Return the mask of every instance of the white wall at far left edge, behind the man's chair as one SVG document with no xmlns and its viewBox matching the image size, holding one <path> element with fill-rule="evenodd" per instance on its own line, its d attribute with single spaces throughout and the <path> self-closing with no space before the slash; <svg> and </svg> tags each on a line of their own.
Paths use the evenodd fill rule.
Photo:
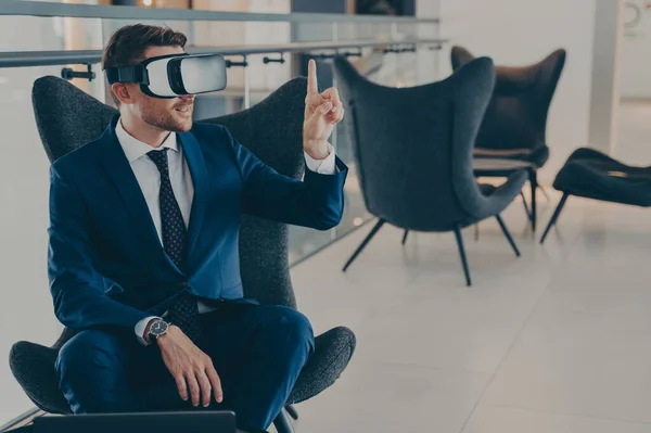
<svg viewBox="0 0 651 433">
<path fill-rule="evenodd" d="M 62 49 L 63 21 L 0 18 L 0 50 Z M 31 84 L 61 68 L 0 69 L 0 425 L 34 405 L 9 370 L 18 340 L 52 344 L 60 331 L 46 273 L 49 162 L 31 111 Z"/>
</svg>

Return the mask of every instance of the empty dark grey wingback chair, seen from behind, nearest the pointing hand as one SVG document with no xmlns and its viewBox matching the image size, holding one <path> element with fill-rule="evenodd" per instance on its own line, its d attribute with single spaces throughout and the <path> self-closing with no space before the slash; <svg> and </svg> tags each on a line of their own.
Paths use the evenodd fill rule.
<svg viewBox="0 0 651 433">
<path fill-rule="evenodd" d="M 480 186 L 473 175 L 474 142 L 495 81 L 493 62 L 477 59 L 443 81 L 403 89 L 367 80 L 342 58 L 334 68 L 365 203 L 379 218 L 343 270 L 385 222 L 454 231 L 468 285 L 462 228 L 495 216 L 520 255 L 499 214 L 518 196 L 526 174 L 512 175 L 500 188 Z"/>
</svg>

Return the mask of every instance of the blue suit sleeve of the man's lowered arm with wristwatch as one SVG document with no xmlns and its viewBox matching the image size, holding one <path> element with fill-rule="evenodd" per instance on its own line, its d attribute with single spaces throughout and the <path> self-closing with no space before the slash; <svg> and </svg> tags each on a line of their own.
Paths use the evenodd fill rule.
<svg viewBox="0 0 651 433">
<path fill-rule="evenodd" d="M 66 327 L 133 329 L 151 316 L 104 294 L 104 278 L 95 270 L 97 251 L 90 242 L 90 221 L 78 190 L 50 169 L 50 243 L 48 277 L 54 314 Z"/>
</svg>

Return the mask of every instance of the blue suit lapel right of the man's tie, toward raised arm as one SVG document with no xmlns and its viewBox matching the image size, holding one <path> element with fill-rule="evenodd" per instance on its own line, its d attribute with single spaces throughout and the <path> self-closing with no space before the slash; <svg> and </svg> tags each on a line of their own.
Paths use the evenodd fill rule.
<svg viewBox="0 0 651 433">
<path fill-rule="evenodd" d="M 190 167 L 192 184 L 194 186 L 194 198 L 192 199 L 190 224 L 188 227 L 188 262 L 191 264 L 192 252 L 195 250 L 206 213 L 208 174 L 196 138 L 191 132 L 182 132 L 179 133 L 178 137 L 181 147 L 183 148 L 183 155 Z"/>
</svg>

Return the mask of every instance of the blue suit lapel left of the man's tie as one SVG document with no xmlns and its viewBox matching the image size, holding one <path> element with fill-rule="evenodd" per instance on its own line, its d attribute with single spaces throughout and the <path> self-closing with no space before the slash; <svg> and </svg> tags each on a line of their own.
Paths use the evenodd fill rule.
<svg viewBox="0 0 651 433">
<path fill-rule="evenodd" d="M 136 178 L 129 161 L 115 135 L 114 125 L 115 124 L 112 123 L 101 138 L 104 148 L 102 153 L 102 164 L 104 165 L 108 177 L 119 191 L 124 205 L 131 215 L 131 219 L 136 226 L 135 231 L 144 238 L 145 245 L 163 254 L 169 265 L 173 266 L 176 271 L 180 272 L 176 265 L 167 257 L 167 253 L 165 253 L 165 249 L 156 232 L 156 227 L 154 226 L 146 201 L 144 200 L 140 184 L 138 184 L 138 179 Z"/>
</svg>

